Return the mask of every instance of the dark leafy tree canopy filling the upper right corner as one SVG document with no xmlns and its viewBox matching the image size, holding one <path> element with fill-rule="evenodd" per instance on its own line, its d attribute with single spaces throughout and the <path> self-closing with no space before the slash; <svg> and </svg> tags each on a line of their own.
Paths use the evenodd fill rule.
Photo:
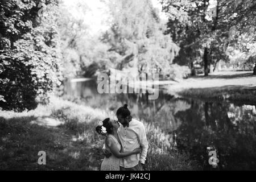
<svg viewBox="0 0 256 182">
<path fill-rule="evenodd" d="M 170 30 L 173 26 L 179 25 L 178 30 L 175 33 L 172 32 L 172 36 L 177 38 L 175 43 L 181 45 L 181 52 L 186 53 L 186 49 L 192 46 L 198 52 L 202 52 L 205 76 L 208 75 L 210 64 L 220 59 L 227 60 L 228 47 L 243 47 L 240 39 L 248 41 L 251 38 L 250 44 L 255 44 L 255 36 L 252 36 L 254 35 L 253 27 L 255 27 L 253 14 L 255 1 L 162 0 L 160 2 L 162 2 L 163 11 L 170 16 L 170 23 L 168 23 Z M 175 24 L 173 25 L 172 22 Z M 234 28 L 237 30 L 236 36 L 232 35 Z M 188 36 L 182 36 L 184 32 Z M 243 40 L 243 43 L 246 41 Z M 253 55 L 252 47 L 254 46 L 249 47 L 247 44 L 247 51 L 250 49 L 249 52 Z M 189 53 L 186 55 L 189 57 Z"/>
</svg>

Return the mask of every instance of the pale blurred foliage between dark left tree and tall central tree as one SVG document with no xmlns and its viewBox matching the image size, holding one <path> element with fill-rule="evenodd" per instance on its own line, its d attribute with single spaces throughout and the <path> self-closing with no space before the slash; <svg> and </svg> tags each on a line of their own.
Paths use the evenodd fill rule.
<svg viewBox="0 0 256 182">
<path fill-rule="evenodd" d="M 92 77 L 99 69 L 105 69 L 106 52 L 108 47 L 100 41 L 100 34 L 90 32 L 89 20 L 85 19 L 90 13 L 86 2 L 72 3 L 80 16 L 72 14 L 72 7 L 59 5 L 57 26 L 61 38 L 61 54 L 63 75 L 65 79 L 75 77 Z"/>
</svg>

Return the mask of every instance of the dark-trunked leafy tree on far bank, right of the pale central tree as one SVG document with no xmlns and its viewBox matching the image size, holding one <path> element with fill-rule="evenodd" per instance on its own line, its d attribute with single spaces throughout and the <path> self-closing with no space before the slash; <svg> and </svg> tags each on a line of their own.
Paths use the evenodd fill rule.
<svg viewBox="0 0 256 182">
<path fill-rule="evenodd" d="M 177 41 L 182 45 L 183 52 L 188 52 L 187 57 L 193 68 L 193 59 L 203 52 L 203 65 L 205 76 L 209 73 L 211 63 L 210 50 L 213 42 L 212 34 L 216 30 L 218 15 L 214 10 L 214 3 L 210 1 L 161 1 L 163 10 L 170 16 L 170 23 L 176 22 L 180 30 L 175 32 Z M 213 14 L 212 14 L 213 13 Z M 174 26 L 175 26 L 174 25 Z M 171 29 L 171 27 L 170 27 Z M 186 35 L 186 36 L 183 36 Z M 201 49 L 201 50 L 200 50 Z M 189 55 L 194 56 L 189 56 Z"/>
</svg>

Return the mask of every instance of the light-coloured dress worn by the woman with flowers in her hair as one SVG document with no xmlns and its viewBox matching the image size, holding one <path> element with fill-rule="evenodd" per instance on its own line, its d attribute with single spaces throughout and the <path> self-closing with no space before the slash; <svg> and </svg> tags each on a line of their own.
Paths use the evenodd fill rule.
<svg viewBox="0 0 256 182">
<path fill-rule="evenodd" d="M 120 151 L 121 144 L 119 144 L 117 138 L 115 138 L 113 135 L 109 135 L 109 137 L 113 138 L 118 150 Z M 110 151 L 108 146 L 106 146 L 106 150 Z M 101 171 L 120 171 L 120 159 L 115 157 L 113 154 L 109 158 L 105 157 L 101 164 Z"/>
</svg>

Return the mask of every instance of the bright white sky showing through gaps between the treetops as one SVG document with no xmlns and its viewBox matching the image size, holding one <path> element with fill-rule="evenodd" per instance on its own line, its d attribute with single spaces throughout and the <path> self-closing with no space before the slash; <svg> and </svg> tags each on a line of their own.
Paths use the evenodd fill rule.
<svg viewBox="0 0 256 182">
<path fill-rule="evenodd" d="M 148 0 L 152 1 L 152 5 L 159 9 L 159 12 L 162 10 L 162 6 L 159 4 L 158 0 Z M 108 24 L 107 20 L 110 19 L 108 15 L 108 10 L 106 9 L 104 3 L 101 0 L 63 0 L 64 5 L 67 6 L 67 9 L 72 13 L 73 16 L 77 19 L 85 19 L 86 24 L 89 26 L 89 32 L 91 34 L 98 34 L 98 32 L 107 30 Z M 77 9 L 75 6 L 76 3 L 86 3 L 89 7 L 89 11 Z M 160 13 L 160 18 L 166 20 L 167 17 L 164 13 Z"/>
</svg>

